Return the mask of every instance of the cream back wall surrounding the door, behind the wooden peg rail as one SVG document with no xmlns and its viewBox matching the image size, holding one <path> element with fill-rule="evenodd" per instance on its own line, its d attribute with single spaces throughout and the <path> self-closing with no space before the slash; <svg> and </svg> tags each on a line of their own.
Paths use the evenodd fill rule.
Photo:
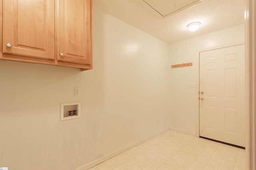
<svg viewBox="0 0 256 170">
<path fill-rule="evenodd" d="M 196 134 L 199 52 L 244 43 L 244 36 L 242 24 L 170 44 L 170 64 L 193 63 L 170 69 L 170 128 Z M 188 83 L 197 88 L 188 88 Z"/>
</svg>

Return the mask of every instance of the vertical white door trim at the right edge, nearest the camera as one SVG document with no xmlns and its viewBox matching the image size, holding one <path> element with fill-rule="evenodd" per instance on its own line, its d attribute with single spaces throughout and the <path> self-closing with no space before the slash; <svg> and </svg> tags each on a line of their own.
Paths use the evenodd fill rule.
<svg viewBox="0 0 256 170">
<path fill-rule="evenodd" d="M 247 116 L 247 149 L 246 169 L 256 169 L 256 2 L 246 0 L 246 29 L 245 29 L 245 53 L 246 53 L 246 106 Z"/>
</svg>

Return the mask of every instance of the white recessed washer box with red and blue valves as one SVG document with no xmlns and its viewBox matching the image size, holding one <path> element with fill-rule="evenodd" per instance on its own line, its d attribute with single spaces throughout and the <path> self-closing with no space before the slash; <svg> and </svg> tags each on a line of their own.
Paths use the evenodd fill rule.
<svg viewBox="0 0 256 170">
<path fill-rule="evenodd" d="M 77 119 L 81 117 L 81 103 L 63 103 L 60 105 L 60 120 Z"/>
</svg>

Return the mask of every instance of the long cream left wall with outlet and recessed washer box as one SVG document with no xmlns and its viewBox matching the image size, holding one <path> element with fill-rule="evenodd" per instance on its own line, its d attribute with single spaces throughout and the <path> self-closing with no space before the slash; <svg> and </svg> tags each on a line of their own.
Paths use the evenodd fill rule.
<svg viewBox="0 0 256 170">
<path fill-rule="evenodd" d="M 97 8 L 93 25 L 92 70 L 0 61 L 1 166 L 72 170 L 169 127 L 168 44 Z M 60 121 L 69 102 L 81 118 Z"/>
</svg>

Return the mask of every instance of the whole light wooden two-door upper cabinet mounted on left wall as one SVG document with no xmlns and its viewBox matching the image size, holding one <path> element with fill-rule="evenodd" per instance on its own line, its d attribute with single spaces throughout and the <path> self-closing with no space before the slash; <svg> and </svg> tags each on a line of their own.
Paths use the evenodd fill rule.
<svg viewBox="0 0 256 170">
<path fill-rule="evenodd" d="M 92 0 L 0 0 L 0 59 L 92 69 Z"/>
</svg>

